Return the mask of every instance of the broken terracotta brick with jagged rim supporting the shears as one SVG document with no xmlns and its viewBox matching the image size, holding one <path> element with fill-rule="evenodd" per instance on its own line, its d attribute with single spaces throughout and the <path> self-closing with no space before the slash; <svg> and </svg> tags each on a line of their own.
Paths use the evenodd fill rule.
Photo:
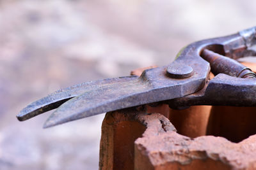
<svg viewBox="0 0 256 170">
<path fill-rule="evenodd" d="M 256 169 L 255 141 L 188 138 L 159 113 L 120 110 L 102 124 L 100 169 Z"/>
</svg>

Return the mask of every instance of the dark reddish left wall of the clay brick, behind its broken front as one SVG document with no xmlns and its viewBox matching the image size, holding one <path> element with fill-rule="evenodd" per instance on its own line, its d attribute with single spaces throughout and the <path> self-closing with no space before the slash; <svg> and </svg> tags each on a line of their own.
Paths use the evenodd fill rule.
<svg viewBox="0 0 256 170">
<path fill-rule="evenodd" d="M 159 113 L 132 108 L 107 113 L 102 123 L 100 169 L 134 169 L 134 141 L 141 137 L 147 125 L 154 124 L 163 125 L 157 127 L 159 131 L 175 131 Z"/>
</svg>

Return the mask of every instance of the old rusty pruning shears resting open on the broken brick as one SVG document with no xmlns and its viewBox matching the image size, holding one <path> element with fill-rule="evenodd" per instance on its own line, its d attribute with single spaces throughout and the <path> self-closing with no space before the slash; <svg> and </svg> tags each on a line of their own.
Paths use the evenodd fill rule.
<svg viewBox="0 0 256 170">
<path fill-rule="evenodd" d="M 255 29 L 191 43 L 172 64 L 147 69 L 140 77 L 109 78 L 58 90 L 29 104 L 17 118 L 23 121 L 57 108 L 44 125 L 51 127 L 149 103 L 168 103 L 172 108 L 197 104 L 256 106 L 255 74 L 234 60 L 256 55 Z M 210 71 L 216 74 L 211 81 Z"/>
</svg>

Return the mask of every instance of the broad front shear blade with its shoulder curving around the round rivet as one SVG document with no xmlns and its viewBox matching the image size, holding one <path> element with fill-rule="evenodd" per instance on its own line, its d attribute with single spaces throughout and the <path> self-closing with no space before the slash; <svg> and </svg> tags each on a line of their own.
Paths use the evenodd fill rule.
<svg viewBox="0 0 256 170">
<path fill-rule="evenodd" d="M 177 62 L 177 61 L 176 61 Z M 204 64 L 197 61 L 195 67 Z M 168 78 L 166 66 L 145 70 L 140 78 L 131 78 L 124 83 L 113 81 L 109 86 L 94 86 L 80 96 L 74 97 L 61 106 L 47 119 L 44 127 L 63 124 L 72 120 L 90 117 L 107 111 L 165 101 L 192 94 L 205 83 L 209 67 L 201 67 L 201 74 L 190 78 Z M 204 70 L 205 69 L 205 70 Z"/>
</svg>

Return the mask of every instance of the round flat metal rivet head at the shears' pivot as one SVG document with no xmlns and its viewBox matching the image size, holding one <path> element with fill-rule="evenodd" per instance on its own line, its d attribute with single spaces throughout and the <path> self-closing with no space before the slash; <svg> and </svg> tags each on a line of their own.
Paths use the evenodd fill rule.
<svg viewBox="0 0 256 170">
<path fill-rule="evenodd" d="M 171 78 L 188 78 L 193 75 L 193 68 L 185 64 L 171 64 L 166 72 Z"/>
</svg>

